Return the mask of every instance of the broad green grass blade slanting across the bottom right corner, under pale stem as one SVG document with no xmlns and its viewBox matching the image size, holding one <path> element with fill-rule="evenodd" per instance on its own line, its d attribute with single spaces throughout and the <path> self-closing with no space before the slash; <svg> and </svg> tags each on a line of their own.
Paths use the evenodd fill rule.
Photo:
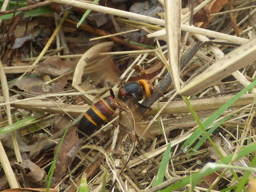
<svg viewBox="0 0 256 192">
<path fill-rule="evenodd" d="M 256 143 L 253 143 L 253 144 L 250 144 L 250 145 L 247 145 L 246 147 L 242 148 L 238 155 L 237 155 L 237 158 L 236 160 L 252 153 L 256 151 Z M 218 161 L 219 163 L 223 163 L 223 164 L 228 164 L 231 159 L 232 159 L 232 156 L 233 156 L 233 153 L 226 156 L 226 157 L 223 157 L 220 161 Z M 218 163 L 217 162 L 217 163 Z M 216 170 L 212 169 L 210 172 L 208 172 L 207 174 L 211 174 L 211 173 L 214 173 Z M 203 175 L 203 177 L 206 176 L 206 175 Z M 178 188 L 181 188 L 181 187 L 184 187 L 185 185 L 189 184 L 191 181 L 196 181 L 198 180 L 199 178 L 199 172 L 197 173 L 194 173 L 194 174 L 191 174 L 190 176 L 187 176 L 185 177 L 184 179 L 182 179 L 181 181 L 173 184 L 173 185 L 170 185 L 169 187 L 161 190 L 162 192 L 169 192 L 169 191 L 172 191 L 172 190 L 175 190 L 175 189 L 178 189 Z M 201 179 L 201 178 L 200 178 Z"/>
</svg>

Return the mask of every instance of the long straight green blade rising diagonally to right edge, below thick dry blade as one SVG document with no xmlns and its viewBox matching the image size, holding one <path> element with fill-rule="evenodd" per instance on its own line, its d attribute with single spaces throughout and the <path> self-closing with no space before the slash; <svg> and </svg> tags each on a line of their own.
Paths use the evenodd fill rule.
<svg viewBox="0 0 256 192">
<path fill-rule="evenodd" d="M 238 100 L 243 94 L 245 94 L 247 91 L 249 91 L 251 88 L 253 88 L 256 84 L 256 80 L 253 80 L 247 87 L 245 87 L 243 90 L 241 90 L 237 95 L 235 95 L 233 98 L 231 98 L 229 101 L 227 101 L 224 105 L 222 105 L 216 112 L 214 112 L 210 117 L 208 117 L 202 124 L 204 126 L 204 129 L 207 129 L 216 119 L 218 119 L 221 114 L 229 108 L 229 106 L 236 100 Z M 183 144 L 183 148 L 190 147 L 194 144 L 194 142 L 199 138 L 199 136 L 203 133 L 203 131 L 198 128 Z"/>
</svg>

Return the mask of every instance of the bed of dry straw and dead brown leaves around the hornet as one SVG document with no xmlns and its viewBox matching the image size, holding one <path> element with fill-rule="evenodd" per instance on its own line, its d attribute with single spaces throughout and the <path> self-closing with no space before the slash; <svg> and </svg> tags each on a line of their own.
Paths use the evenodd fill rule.
<svg viewBox="0 0 256 192">
<path fill-rule="evenodd" d="M 44 53 L 44 57 L 35 66 L 32 73 L 29 73 L 19 81 L 16 79 L 25 72 L 24 67 L 30 66 L 47 45 L 49 38 L 56 28 L 58 19 L 54 14 L 24 17 L 24 12 L 20 12 L 11 19 L 3 20 L 5 25 L 2 22 L 2 26 L 5 27 L 1 28 L 0 39 L 2 46 L 0 51 L 2 64 L 0 65 L 3 65 L 4 71 L 9 71 L 6 75 L 10 101 L 20 102 L 20 105 L 17 105 L 18 103 L 16 105 L 15 103 L 11 104 L 12 121 L 18 122 L 26 118 L 24 116 L 25 112 L 20 111 L 20 108 L 28 110 L 29 113 L 26 113 L 28 116 L 40 111 L 38 117 L 41 119 L 41 122 L 46 121 L 45 124 L 35 122 L 32 125 L 17 128 L 14 131 L 17 135 L 20 149 L 23 149 L 20 150 L 24 153 L 23 157 L 26 154 L 29 156 L 29 160 L 23 159 L 23 162 L 17 162 L 14 156 L 8 155 L 10 162 L 5 162 L 10 163 L 13 169 L 19 170 L 18 174 L 15 173 L 15 177 L 26 191 L 32 190 L 28 187 L 42 187 L 40 190 L 45 190 L 44 187 L 46 186 L 42 186 L 42 184 L 46 173 L 49 171 L 49 163 L 52 163 L 53 156 L 56 155 L 56 147 L 59 145 L 59 138 L 63 131 L 70 120 L 75 119 L 79 113 L 86 112 L 84 109 L 89 109 L 90 105 L 97 102 L 100 98 L 108 96 L 108 89 L 112 88 L 116 94 L 120 86 L 127 82 L 139 79 L 151 80 L 154 86 L 165 94 L 160 99 L 159 106 L 161 108 L 175 93 L 174 85 L 171 83 L 172 80 L 167 79 L 165 81 L 165 76 L 168 76 L 168 74 L 164 67 L 164 60 L 167 61 L 169 59 L 165 47 L 166 35 L 164 38 L 160 35 L 159 38 L 157 38 L 158 36 L 147 37 L 148 33 L 154 33 L 164 28 L 164 23 L 159 23 L 159 25 L 153 23 L 150 26 L 145 23 L 144 17 L 142 17 L 142 15 L 150 16 L 152 21 L 154 20 L 153 17 L 164 19 L 166 10 L 163 9 L 163 3 L 166 3 L 166 1 L 108 1 L 106 4 L 100 2 L 100 6 L 111 8 L 111 14 L 106 14 L 104 9 L 94 10 L 79 28 L 76 28 L 76 24 L 85 12 L 82 6 L 71 9 L 72 7 L 66 1 L 52 0 L 51 2 L 54 2 L 50 4 L 50 7 L 55 14 L 62 16 L 67 10 L 70 13 L 59 30 L 58 35 L 56 35 L 49 49 Z M 76 1 L 74 0 L 74 2 Z M 199 11 L 195 11 L 194 16 L 191 17 L 190 7 L 193 6 L 193 9 L 196 10 L 197 6 L 203 3 L 203 1 L 193 2 L 194 4 L 192 5 L 190 4 L 191 1 L 188 1 L 188 4 L 186 1 L 182 1 L 181 21 L 184 21 L 182 24 L 188 25 L 190 22 L 198 28 L 220 32 L 220 39 L 223 39 L 222 34 L 228 34 L 234 38 L 239 36 L 243 39 L 250 39 L 255 36 L 253 27 L 255 25 L 254 2 L 209 1 L 210 3 L 203 6 Z M 31 1 L 27 3 L 31 4 Z M 249 6 L 251 8 L 246 8 Z M 92 9 L 94 8 L 92 7 Z M 127 15 L 123 15 L 123 18 L 126 20 L 120 20 L 120 14 L 123 12 L 120 13 L 118 10 L 137 13 L 137 20 L 127 20 L 129 18 Z M 233 12 L 225 12 L 232 10 Z M 246 17 L 248 14 L 251 16 Z M 119 15 L 119 17 L 115 15 Z M 193 18 L 193 20 L 189 21 L 189 17 Z M 128 31 L 132 29 L 140 31 L 129 33 Z M 94 37 L 125 31 L 127 34 L 89 41 Z M 181 42 L 181 59 L 188 61 L 185 65 L 181 63 L 181 70 L 183 70 L 181 76 L 182 84 L 186 84 L 186 82 L 194 79 L 195 76 L 203 73 L 216 60 L 236 49 L 227 40 L 224 44 L 218 44 L 220 39 L 215 38 L 212 39 L 212 41 L 215 41 L 213 44 L 210 42 L 205 46 L 201 46 L 195 55 L 183 54 L 191 49 L 196 49 L 193 46 L 196 46 L 196 42 L 203 38 L 202 34 L 199 36 L 197 33 L 197 29 L 194 32 L 182 31 L 181 39 L 179 39 Z M 211 33 L 207 33 L 208 37 L 211 37 L 211 35 Z M 97 53 L 96 55 L 88 54 L 87 51 L 90 48 L 101 45 L 100 43 L 106 41 L 114 43 L 110 50 Z M 156 47 L 157 44 L 162 46 L 161 52 L 159 50 L 147 52 L 148 48 L 144 46 Z M 68 45 L 68 52 L 67 49 L 63 51 L 65 45 Z M 88 55 L 79 61 L 81 55 L 86 52 Z M 136 62 L 134 63 L 134 61 Z M 78 77 L 74 76 L 74 71 L 78 68 L 79 65 L 77 63 L 79 62 L 89 62 L 90 68 L 84 68 L 85 70 L 79 68 L 80 75 Z M 138 63 L 139 65 L 137 65 Z M 135 66 L 130 67 L 131 65 Z M 125 75 L 122 75 L 123 73 Z M 246 66 L 236 74 L 229 74 L 229 76 L 223 77 L 217 82 L 212 82 L 211 86 L 208 86 L 207 89 L 190 96 L 190 101 L 193 102 L 194 110 L 201 122 L 220 107 L 218 104 L 223 98 L 231 98 L 246 87 L 253 80 L 255 74 L 255 63 L 246 63 Z M 74 83 L 74 79 L 77 78 L 79 80 L 78 84 L 80 86 L 81 83 L 82 88 L 78 91 L 72 87 L 72 81 Z M 5 85 L 2 83 L 1 81 L 1 93 L 5 88 Z M 164 88 L 161 87 L 162 84 Z M 130 106 L 136 122 L 135 127 L 131 127 L 133 120 L 126 120 L 128 122 L 126 122 L 126 125 L 125 120 L 122 122 L 121 120 L 115 120 L 114 118 L 119 113 L 118 110 L 108 120 L 108 122 L 112 120 L 113 122 L 107 123 L 106 126 L 103 126 L 99 132 L 96 132 L 90 138 L 79 139 L 76 126 L 71 127 L 61 143 L 50 190 L 55 190 L 53 187 L 59 187 L 57 190 L 75 191 L 76 187 L 80 184 L 82 173 L 86 173 L 89 190 L 99 190 L 101 187 L 108 191 L 112 190 L 113 187 L 116 191 L 151 190 L 151 183 L 158 172 L 164 149 L 167 146 L 166 141 L 169 140 L 172 140 L 172 150 L 161 189 L 168 186 L 174 188 L 175 185 L 171 182 L 172 178 L 180 180 L 189 174 L 193 175 L 193 173 L 198 172 L 207 162 L 221 160 L 220 155 L 216 153 L 215 147 L 208 140 L 190 158 L 188 158 L 189 151 L 184 151 L 181 147 L 184 141 L 197 129 L 198 124 L 191 117 L 191 114 L 188 113 L 187 109 L 184 111 L 180 110 L 181 106 L 178 104 L 183 102 L 180 95 L 177 95 L 170 102 L 172 105 L 167 106 L 166 110 L 160 115 L 161 118 L 157 118 L 152 123 L 147 131 L 147 138 L 143 137 L 143 139 L 138 140 L 140 135 L 134 138 L 134 136 L 129 134 L 134 128 L 138 130 L 137 134 L 142 134 L 148 123 L 151 123 L 153 116 L 157 114 L 159 106 L 157 103 L 153 105 L 147 103 L 154 103 L 160 98 L 161 94 L 159 91 L 155 89 L 152 98 L 142 102 L 147 108 L 143 108 L 141 105 Z M 76 92 L 77 94 L 72 95 L 70 94 L 71 92 Z M 254 110 L 253 94 L 255 94 L 255 91 L 252 89 L 251 93 L 244 95 L 246 99 L 242 99 L 242 97 L 238 99 L 235 106 L 231 106 L 218 117 L 217 121 L 228 117 L 232 112 L 236 112 L 222 122 L 216 131 L 210 135 L 224 157 L 236 153 L 234 149 L 238 146 L 245 147 L 254 143 L 255 123 L 254 118 L 251 122 L 249 118 Z M 59 95 L 53 96 L 53 94 Z M 38 96 L 44 95 L 49 96 L 37 99 Z M 82 99 L 84 97 L 81 95 L 87 95 L 90 100 Z M 2 95 L 0 99 L 1 103 L 5 102 L 5 98 Z M 26 99 L 31 99 L 32 102 Z M 208 101 L 208 104 L 206 102 L 204 105 L 204 101 Z M 0 127 L 8 125 L 8 114 L 3 108 L 6 105 L 0 105 Z M 54 112 L 51 111 L 54 108 L 57 108 L 58 112 L 56 110 Z M 84 111 L 81 111 L 82 109 Z M 120 110 L 123 109 L 124 105 L 121 105 Z M 80 112 L 78 112 L 79 110 Z M 143 111 L 147 112 L 142 115 Z M 124 110 L 122 116 L 126 114 L 126 118 L 131 119 L 131 114 L 129 115 L 129 113 L 127 113 L 127 110 Z M 55 115 L 55 117 L 47 118 L 50 115 Z M 119 125 L 122 126 L 121 129 L 119 129 Z M 130 131 L 123 129 L 123 126 L 130 127 Z M 245 127 L 249 127 L 249 131 L 248 133 L 246 132 L 247 135 L 244 143 L 240 143 Z M 113 130 L 116 131 L 114 132 Z M 1 141 L 6 145 L 6 153 L 13 152 L 12 143 L 15 142 L 7 134 L 1 135 Z M 113 142 L 115 143 L 113 144 Z M 88 148 L 81 150 L 80 147 L 85 145 Z M 26 150 L 24 150 L 25 148 Z M 246 154 L 238 161 L 232 161 L 232 165 L 250 166 L 254 162 L 254 155 L 254 153 Z M 128 161 L 128 164 L 126 161 Z M 1 163 L 3 164 L 3 162 Z M 125 169 L 120 172 L 124 166 Z M 108 169 L 109 174 L 106 180 L 103 179 L 104 169 Z M 247 173 L 241 169 L 233 170 L 236 174 L 239 174 L 239 177 L 247 177 L 247 179 L 244 178 L 246 181 L 241 184 L 247 186 Z M 215 182 L 222 171 L 222 169 L 219 169 L 215 173 L 203 177 L 202 180 L 204 182 L 196 186 L 197 190 L 207 190 L 209 187 L 215 190 L 236 187 L 239 181 L 237 181 L 236 175 L 231 171 L 225 172 L 222 175 L 222 179 Z M 10 180 L 6 178 L 3 169 L 1 173 L 0 177 L 3 182 L 1 182 L 0 189 L 11 191 L 12 189 L 8 185 Z M 20 177 L 21 175 L 23 177 Z M 253 176 L 253 172 L 251 176 Z M 232 181 L 233 179 L 235 181 Z M 26 182 L 26 180 L 29 182 Z M 129 186 L 125 186 L 124 182 Z M 166 184 L 165 182 L 169 183 Z M 253 182 L 251 180 L 250 192 L 253 191 L 251 189 Z M 105 183 L 104 186 L 102 186 L 103 183 Z M 213 183 L 215 185 L 212 185 Z M 178 181 L 176 185 L 179 185 Z M 189 188 L 189 185 L 180 186 L 182 190 L 189 190 Z M 242 190 L 245 191 L 245 188 Z"/>
</svg>

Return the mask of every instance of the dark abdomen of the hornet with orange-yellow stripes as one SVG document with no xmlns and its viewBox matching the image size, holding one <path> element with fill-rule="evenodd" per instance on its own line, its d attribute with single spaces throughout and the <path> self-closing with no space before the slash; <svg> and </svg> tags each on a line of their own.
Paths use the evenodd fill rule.
<svg viewBox="0 0 256 192">
<path fill-rule="evenodd" d="M 91 108 L 84 114 L 78 124 L 78 130 L 86 135 L 91 135 L 96 131 L 100 125 L 108 120 L 116 110 L 116 105 L 113 96 L 104 97 L 96 102 Z M 82 134 L 78 134 L 82 137 Z"/>
</svg>

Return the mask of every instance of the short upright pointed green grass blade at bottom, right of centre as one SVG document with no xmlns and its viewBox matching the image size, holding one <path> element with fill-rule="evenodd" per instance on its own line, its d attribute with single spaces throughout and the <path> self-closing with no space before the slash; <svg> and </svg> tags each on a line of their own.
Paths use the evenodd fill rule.
<svg viewBox="0 0 256 192">
<path fill-rule="evenodd" d="M 160 165 L 159 165 L 159 168 L 158 168 L 158 172 L 157 172 L 157 176 L 156 176 L 156 179 L 155 181 L 153 182 L 153 185 L 152 187 L 154 186 L 157 186 L 158 184 L 162 183 L 163 182 L 163 179 L 164 179 L 164 175 L 165 175 L 165 170 L 166 170 L 166 167 L 168 165 L 168 162 L 169 162 L 169 156 L 170 156 L 170 143 L 168 144 L 164 154 L 163 154 L 163 158 L 160 162 Z"/>
</svg>

